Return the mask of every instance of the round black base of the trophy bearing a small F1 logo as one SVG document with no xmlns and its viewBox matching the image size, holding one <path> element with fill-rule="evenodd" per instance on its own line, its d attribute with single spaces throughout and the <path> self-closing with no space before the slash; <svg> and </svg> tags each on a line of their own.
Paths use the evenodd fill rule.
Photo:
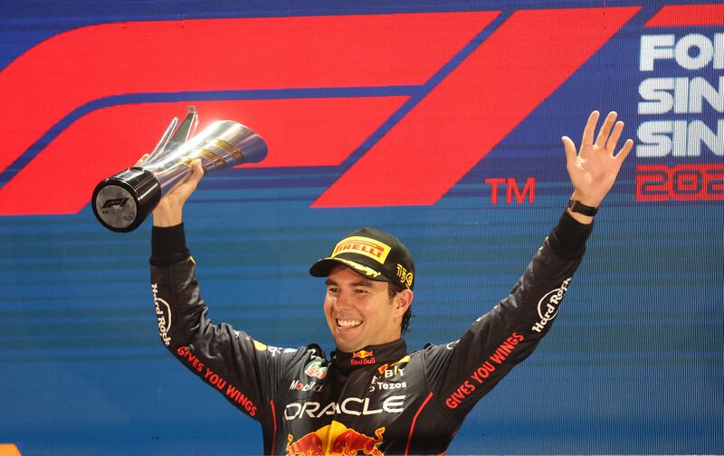
<svg viewBox="0 0 724 456">
<path fill-rule="evenodd" d="M 91 206 L 100 224 L 110 231 L 129 233 L 146 220 L 160 200 L 161 185 L 156 176 L 132 167 L 96 185 Z"/>
</svg>

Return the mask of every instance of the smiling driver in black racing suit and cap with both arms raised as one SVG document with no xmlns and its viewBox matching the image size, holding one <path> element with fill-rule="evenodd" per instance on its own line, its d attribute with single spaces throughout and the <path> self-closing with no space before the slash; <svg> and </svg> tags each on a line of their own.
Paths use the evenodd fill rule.
<svg viewBox="0 0 724 456">
<path fill-rule="evenodd" d="M 548 333 L 585 252 L 595 208 L 614 184 L 629 139 L 610 113 L 597 137 L 589 117 L 578 151 L 562 138 L 574 192 L 510 295 L 462 337 L 408 354 L 401 338 L 413 301 L 414 262 L 394 236 L 364 228 L 310 273 L 327 277 L 324 314 L 337 350 L 266 347 L 213 324 L 186 249 L 182 210 L 198 163 L 154 211 L 151 279 L 161 338 L 225 398 L 262 423 L 273 454 L 439 454 L 472 406 Z M 172 323 L 172 324 L 171 324 Z"/>
</svg>

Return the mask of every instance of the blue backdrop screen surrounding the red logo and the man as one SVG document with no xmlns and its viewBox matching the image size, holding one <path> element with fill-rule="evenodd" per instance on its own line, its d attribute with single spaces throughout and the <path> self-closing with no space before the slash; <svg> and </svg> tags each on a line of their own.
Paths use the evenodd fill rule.
<svg viewBox="0 0 724 456">
<path fill-rule="evenodd" d="M 405 336 L 415 350 L 427 342 L 456 339 L 510 290 L 571 192 L 559 138 L 567 134 L 577 141 L 590 110 L 617 110 L 627 123 L 625 134 L 639 145 L 640 126 L 652 120 L 701 120 L 716 135 L 721 103 L 705 103 L 700 113 L 639 114 L 640 84 L 649 78 L 700 77 L 722 93 L 722 70 L 713 65 L 687 70 L 676 62 L 657 62 L 655 71 L 640 71 L 644 34 L 681 38 L 700 33 L 713 40 L 724 33 L 721 21 L 645 26 L 666 5 L 4 4 L 0 68 L 7 71 L 43 40 L 91 24 L 500 11 L 422 85 L 119 94 L 79 108 L 44 137 L 51 143 L 65 128 L 106 106 L 244 97 L 411 97 L 339 165 L 242 168 L 206 176 L 186 205 L 185 220 L 211 318 L 274 346 L 319 342 L 328 352 L 333 341 L 322 316 L 324 285 L 310 278 L 310 264 L 359 226 L 395 233 L 414 253 L 417 266 L 414 318 Z M 641 9 L 436 203 L 311 207 L 511 15 L 604 6 Z M 33 90 L 33 81 L 26 90 Z M 203 119 L 204 112 L 200 115 Z M 4 128 L 0 125 L 9 134 Z M 586 258 L 556 327 L 533 356 L 476 405 L 449 454 L 724 452 L 724 205 L 720 199 L 652 201 L 636 191 L 640 166 L 724 165 L 722 142 L 719 134 L 714 147 L 702 147 L 697 157 L 632 152 L 596 216 Z M 0 195 L 3 185 L 43 154 L 45 143 L 0 170 Z M 501 177 L 514 178 L 521 188 L 533 177 L 535 201 L 507 204 L 500 187 L 501 199 L 492 204 L 486 179 Z M 52 191 L 52 183 L 37 185 L 28 192 Z M 189 375 L 159 343 L 148 284 L 149 232 L 149 222 L 129 234 L 105 231 L 90 205 L 77 214 L 0 214 L 0 442 L 16 444 L 24 455 L 262 452 L 257 423 Z"/>
</svg>

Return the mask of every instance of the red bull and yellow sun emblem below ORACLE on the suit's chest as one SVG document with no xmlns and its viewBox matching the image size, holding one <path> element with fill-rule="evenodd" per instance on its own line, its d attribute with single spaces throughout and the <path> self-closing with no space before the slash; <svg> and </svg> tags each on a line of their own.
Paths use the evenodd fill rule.
<svg viewBox="0 0 724 456">
<path fill-rule="evenodd" d="M 377 428 L 375 438 L 369 437 L 342 423 L 333 421 L 315 432 L 310 432 L 296 442 L 289 434 L 287 439 L 287 456 L 385 456 L 377 446 L 382 443 L 385 428 Z"/>
</svg>

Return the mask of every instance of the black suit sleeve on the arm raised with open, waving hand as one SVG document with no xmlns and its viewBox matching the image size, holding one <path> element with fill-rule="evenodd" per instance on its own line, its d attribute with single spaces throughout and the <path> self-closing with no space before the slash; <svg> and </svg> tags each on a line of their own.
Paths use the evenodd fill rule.
<svg viewBox="0 0 724 456">
<path fill-rule="evenodd" d="M 538 346 L 586 251 L 592 226 L 561 216 L 510 294 L 455 342 L 427 347 L 425 372 L 443 410 L 464 416 Z"/>
</svg>

